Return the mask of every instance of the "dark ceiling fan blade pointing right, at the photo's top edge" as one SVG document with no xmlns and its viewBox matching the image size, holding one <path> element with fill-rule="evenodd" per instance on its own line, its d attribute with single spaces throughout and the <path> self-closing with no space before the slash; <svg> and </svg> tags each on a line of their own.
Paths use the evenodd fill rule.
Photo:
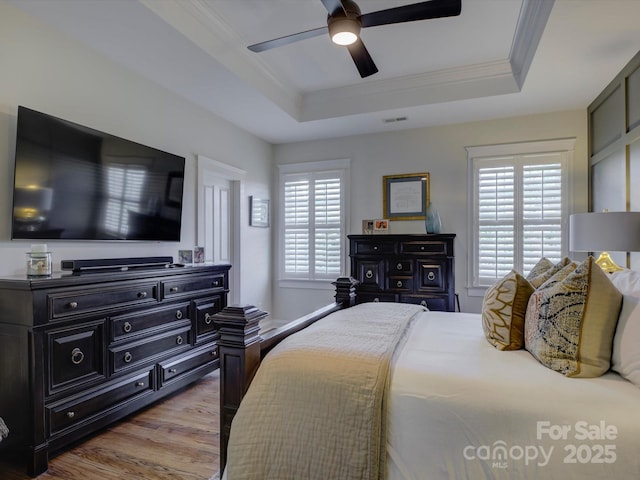
<svg viewBox="0 0 640 480">
<path fill-rule="evenodd" d="M 360 16 L 360 22 L 362 23 L 362 28 L 376 27 L 378 25 L 415 22 L 431 18 L 455 17 L 460 15 L 461 10 L 462 0 L 431 0 L 429 2 L 365 13 Z"/>
</svg>

